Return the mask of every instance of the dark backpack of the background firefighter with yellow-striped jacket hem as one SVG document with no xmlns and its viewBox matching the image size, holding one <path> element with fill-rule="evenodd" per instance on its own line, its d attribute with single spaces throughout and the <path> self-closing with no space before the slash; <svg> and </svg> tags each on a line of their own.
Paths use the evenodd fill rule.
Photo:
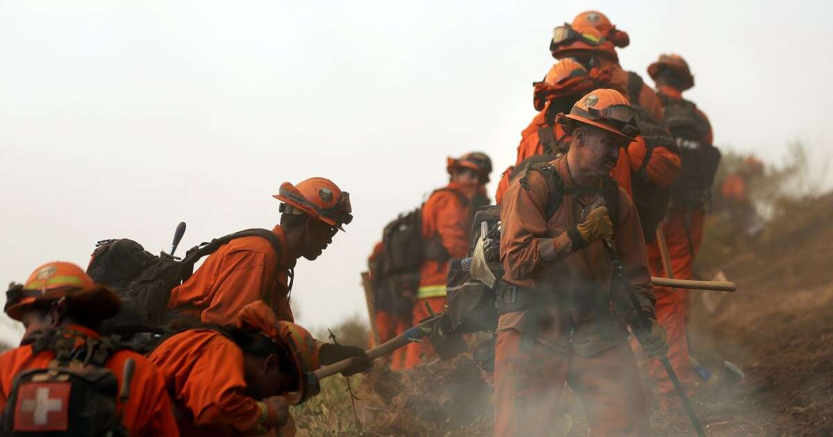
<svg viewBox="0 0 833 437">
<path fill-rule="evenodd" d="M 468 198 L 459 191 L 440 188 L 433 191 L 431 196 L 438 191 L 451 191 L 462 205 L 470 206 Z M 387 288 L 391 300 L 395 302 L 393 305 L 403 312 L 407 309 L 407 314 L 410 314 L 419 289 L 422 261 L 449 259 L 439 238 L 426 240 L 422 237 L 422 206 L 397 216 L 382 231 L 382 262 L 379 267 L 382 272 L 379 279 L 381 287 L 382 290 Z"/>
</svg>

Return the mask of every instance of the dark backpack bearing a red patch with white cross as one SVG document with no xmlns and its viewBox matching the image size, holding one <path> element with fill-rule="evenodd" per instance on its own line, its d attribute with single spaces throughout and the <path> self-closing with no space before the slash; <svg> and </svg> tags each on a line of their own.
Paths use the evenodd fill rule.
<svg viewBox="0 0 833 437">
<path fill-rule="evenodd" d="M 85 340 L 81 348 L 76 345 L 78 336 Z M 125 363 L 121 394 L 116 375 L 104 365 L 119 349 L 107 338 L 92 339 L 67 329 L 43 331 L 32 344 L 32 354 L 52 350 L 55 359 L 46 368 L 15 376 L 0 434 L 127 436 L 116 398 L 120 396 L 124 405 L 135 363 Z"/>
</svg>

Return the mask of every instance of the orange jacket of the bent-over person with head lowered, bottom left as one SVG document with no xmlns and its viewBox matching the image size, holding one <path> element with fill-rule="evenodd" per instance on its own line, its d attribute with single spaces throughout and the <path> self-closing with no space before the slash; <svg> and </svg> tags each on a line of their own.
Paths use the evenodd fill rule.
<svg viewBox="0 0 833 437">
<path fill-rule="evenodd" d="M 182 435 L 239 435 L 261 417 L 257 400 L 246 395 L 243 352 L 216 330 L 186 330 L 153 350 L 157 365 L 174 394 Z"/>
</svg>

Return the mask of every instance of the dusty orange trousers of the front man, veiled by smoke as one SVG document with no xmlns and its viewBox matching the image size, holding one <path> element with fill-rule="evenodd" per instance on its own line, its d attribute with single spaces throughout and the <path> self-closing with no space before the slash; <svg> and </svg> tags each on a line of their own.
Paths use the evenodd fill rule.
<svg viewBox="0 0 833 437">
<path fill-rule="evenodd" d="M 496 437 L 553 435 L 564 383 L 581 398 L 591 435 L 648 435 L 648 411 L 631 346 L 622 342 L 591 358 L 501 330 L 495 344 Z"/>
</svg>

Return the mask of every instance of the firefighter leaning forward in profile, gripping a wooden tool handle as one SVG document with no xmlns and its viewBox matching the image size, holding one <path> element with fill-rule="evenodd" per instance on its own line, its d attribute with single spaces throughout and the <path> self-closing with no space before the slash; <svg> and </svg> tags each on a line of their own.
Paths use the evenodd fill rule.
<svg viewBox="0 0 833 437">
<path fill-rule="evenodd" d="M 281 224 L 272 230 L 281 242 L 280 253 L 259 236 L 233 240 L 171 291 L 168 308 L 203 323 L 228 325 L 243 306 L 264 300 L 279 320 L 294 320 L 289 293 L 295 263 L 302 256 L 315 260 L 336 233 L 344 231 L 353 218 L 350 196 L 332 181 L 312 177 L 297 186 L 284 182 L 273 197 L 283 202 Z M 372 365 L 361 348 L 332 344 L 321 350 L 322 365 L 353 355 L 358 360 L 346 374 Z"/>
</svg>

